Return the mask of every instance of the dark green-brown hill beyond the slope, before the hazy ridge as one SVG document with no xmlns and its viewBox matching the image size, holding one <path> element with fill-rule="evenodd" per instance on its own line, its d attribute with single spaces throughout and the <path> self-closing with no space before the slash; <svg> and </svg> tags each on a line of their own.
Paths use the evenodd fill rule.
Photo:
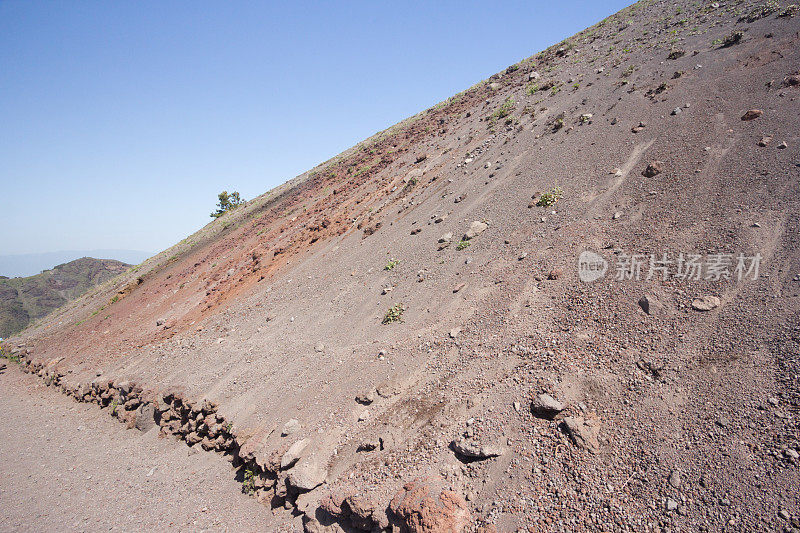
<svg viewBox="0 0 800 533">
<path fill-rule="evenodd" d="M 130 265 L 114 259 L 83 257 L 27 278 L 0 276 L 0 337 L 24 329 Z"/>
</svg>

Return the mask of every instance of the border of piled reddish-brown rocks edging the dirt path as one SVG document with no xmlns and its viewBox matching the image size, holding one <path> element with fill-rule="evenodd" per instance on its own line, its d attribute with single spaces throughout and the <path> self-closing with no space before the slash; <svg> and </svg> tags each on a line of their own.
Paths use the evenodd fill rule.
<svg viewBox="0 0 800 533">
<path fill-rule="evenodd" d="M 63 358 L 43 362 L 34 361 L 29 355 L 26 348 L 12 350 L 10 357 L 4 354 L 10 361 L 17 361 L 23 372 L 38 376 L 48 387 L 55 387 L 78 402 L 94 403 L 108 410 L 129 429 L 146 432 L 158 426 L 162 435 L 224 456 L 231 463 L 243 493 L 271 509 L 283 507 L 301 517 L 305 531 L 328 531 L 327 526 L 333 524 L 347 531 L 389 531 L 392 525 L 405 531 L 409 524 L 430 531 L 450 531 L 460 530 L 469 522 L 470 513 L 463 498 L 441 490 L 435 480 L 427 478 L 406 483 L 385 512 L 375 502 L 353 500 L 357 495 L 329 494 L 312 504 L 316 497 L 310 497 L 311 493 L 327 481 L 325 466 L 308 457 L 286 465 L 278 453 L 256 456 L 255 450 L 237 437 L 233 424 L 217 412 L 216 403 L 207 399 L 192 401 L 174 387 L 157 391 L 134 381 L 105 376 L 91 382 L 70 383 L 57 368 Z M 425 497 L 408 500 L 409 491 Z M 399 506 L 399 501 L 405 503 Z"/>
</svg>

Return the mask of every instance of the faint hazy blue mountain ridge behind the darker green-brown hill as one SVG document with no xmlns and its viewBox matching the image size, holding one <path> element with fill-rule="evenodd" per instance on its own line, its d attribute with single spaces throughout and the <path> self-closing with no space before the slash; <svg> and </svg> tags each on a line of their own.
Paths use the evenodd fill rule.
<svg viewBox="0 0 800 533">
<path fill-rule="evenodd" d="M 141 250 L 113 249 L 61 250 L 38 254 L 0 255 L 0 276 L 9 278 L 35 276 L 43 270 L 53 268 L 53 265 L 61 265 L 82 257 L 114 259 L 123 263 L 138 265 L 151 255 L 151 253 Z"/>
</svg>

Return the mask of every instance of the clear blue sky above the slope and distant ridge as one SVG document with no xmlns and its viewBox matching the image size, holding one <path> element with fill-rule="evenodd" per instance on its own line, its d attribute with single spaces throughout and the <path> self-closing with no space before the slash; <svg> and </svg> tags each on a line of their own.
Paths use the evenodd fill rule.
<svg viewBox="0 0 800 533">
<path fill-rule="evenodd" d="M 2 0 L 0 255 L 160 251 L 630 3 Z"/>
</svg>

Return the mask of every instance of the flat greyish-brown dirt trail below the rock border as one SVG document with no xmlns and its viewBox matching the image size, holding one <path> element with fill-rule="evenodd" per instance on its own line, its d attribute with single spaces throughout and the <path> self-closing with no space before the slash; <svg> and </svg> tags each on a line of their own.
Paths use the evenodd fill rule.
<svg viewBox="0 0 800 533">
<path fill-rule="evenodd" d="M 0 376 L 0 530 L 275 531 L 209 452 L 125 429 L 9 368 Z"/>
</svg>

